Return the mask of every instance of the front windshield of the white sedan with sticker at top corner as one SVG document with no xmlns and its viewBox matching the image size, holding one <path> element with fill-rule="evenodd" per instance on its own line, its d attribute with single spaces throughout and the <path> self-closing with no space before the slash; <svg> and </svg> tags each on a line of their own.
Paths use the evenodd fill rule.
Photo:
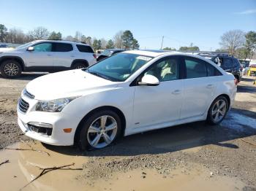
<svg viewBox="0 0 256 191">
<path fill-rule="evenodd" d="M 144 55 L 119 53 L 99 61 L 88 69 L 83 69 L 83 71 L 113 82 L 124 82 L 151 59 L 152 57 Z"/>
</svg>

